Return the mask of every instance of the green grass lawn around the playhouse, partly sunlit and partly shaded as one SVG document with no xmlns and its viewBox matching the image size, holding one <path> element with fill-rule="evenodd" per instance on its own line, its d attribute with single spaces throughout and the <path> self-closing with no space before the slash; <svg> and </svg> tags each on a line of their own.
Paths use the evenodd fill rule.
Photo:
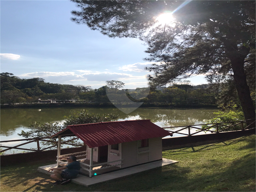
<svg viewBox="0 0 256 192">
<path fill-rule="evenodd" d="M 256 191 L 255 135 L 163 151 L 179 163 L 85 187 L 75 183 L 53 186 L 39 166 L 1 167 L 0 191 Z"/>
</svg>

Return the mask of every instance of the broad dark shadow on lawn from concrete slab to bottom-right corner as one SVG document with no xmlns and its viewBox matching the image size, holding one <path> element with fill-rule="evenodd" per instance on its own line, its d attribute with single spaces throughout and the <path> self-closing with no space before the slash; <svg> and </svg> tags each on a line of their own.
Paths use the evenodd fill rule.
<svg viewBox="0 0 256 192">
<path fill-rule="evenodd" d="M 246 158 L 246 161 L 244 160 Z M 238 163 L 238 164 L 237 164 Z M 254 167 L 253 167 L 254 163 Z M 251 166 L 250 166 L 251 165 Z M 215 167 L 215 168 L 214 168 Z M 217 169 L 216 169 L 217 167 Z M 219 169 L 218 169 L 219 167 Z M 197 173 L 195 167 L 166 165 L 125 178 L 105 182 L 94 191 L 255 191 L 255 155 L 239 158 L 222 169 L 218 162 L 205 167 L 211 172 Z M 253 170 L 251 170 L 253 169 Z M 250 182 L 251 179 L 251 182 Z M 254 181 L 254 182 L 253 182 Z M 122 186 L 122 189 L 117 188 Z"/>
</svg>

